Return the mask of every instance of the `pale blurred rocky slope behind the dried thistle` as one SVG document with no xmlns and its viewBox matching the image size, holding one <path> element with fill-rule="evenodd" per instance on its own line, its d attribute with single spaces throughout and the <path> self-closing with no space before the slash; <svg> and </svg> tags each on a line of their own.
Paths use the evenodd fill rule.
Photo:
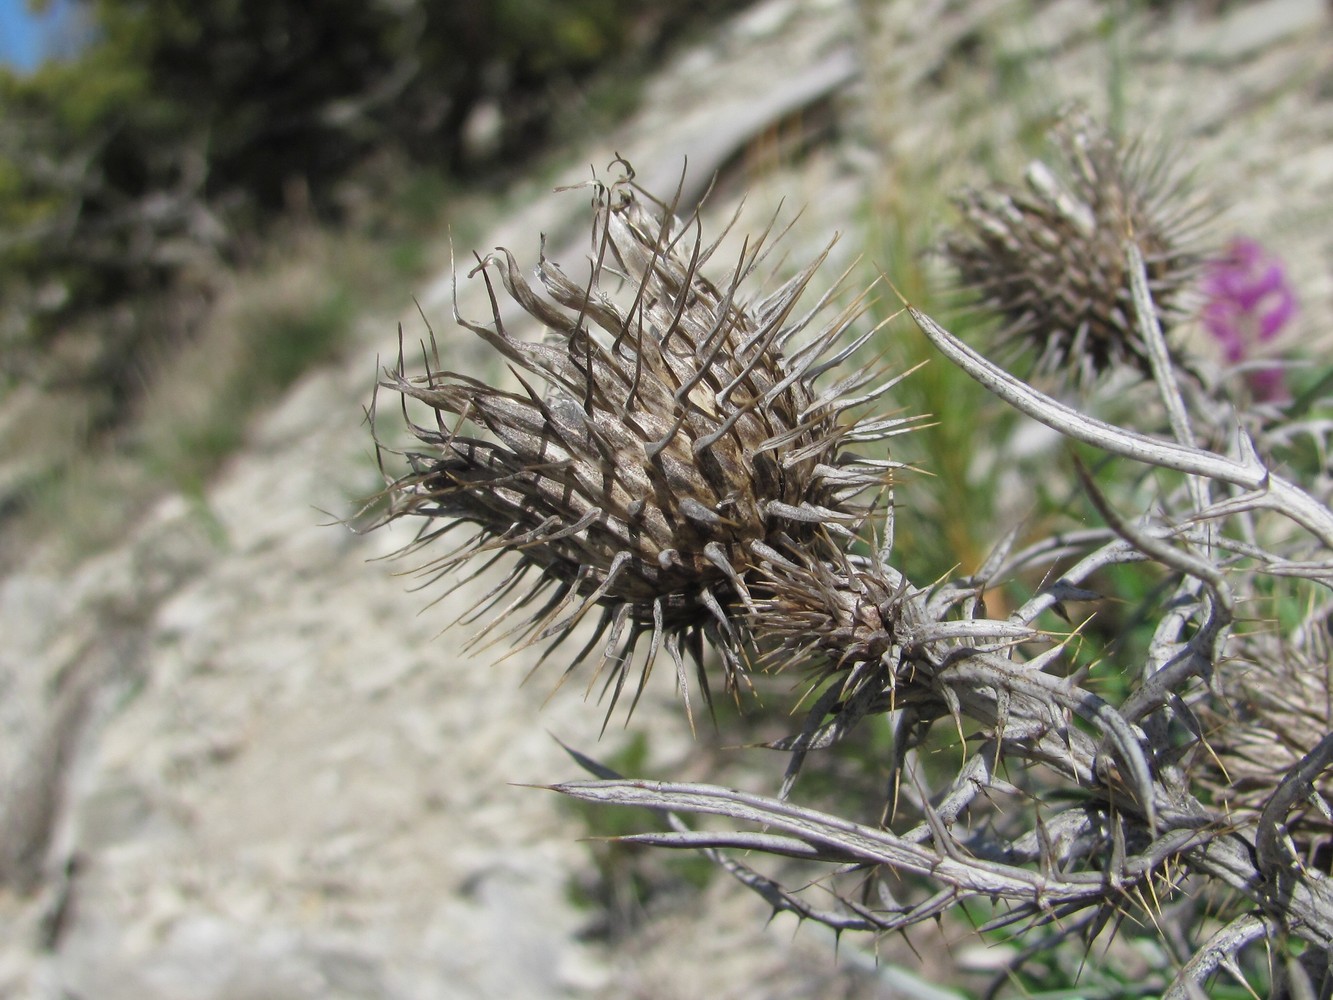
<svg viewBox="0 0 1333 1000">
<path fill-rule="evenodd" d="M 549 188 L 619 151 L 669 193 L 688 155 L 686 200 L 720 172 L 705 225 L 744 191 L 752 227 L 785 197 L 804 205 L 792 265 L 846 233 L 832 275 L 913 212 L 922 177 L 942 196 L 1020 163 L 1014 129 L 1078 99 L 1201 164 L 1225 225 L 1285 256 L 1304 333 L 1326 337 L 1325 4 L 1173 4 L 1113 44 L 1101 9 L 768 0 L 682 51 L 604 144 L 515 192 L 483 248 L 531 265 L 545 232 L 573 264 L 587 196 Z M 1026 83 L 1001 89 L 1001 65 Z M 451 295 L 449 276 L 420 295 L 451 365 L 496 371 L 452 331 Z M 481 289 L 460 280 L 459 296 L 487 315 Z M 857 943 L 834 956 L 817 929 L 765 928 L 764 904 L 722 879 L 665 893 L 613 944 L 589 933 L 599 915 L 571 893 L 597 883 L 587 827 L 513 783 L 575 775 L 552 735 L 604 756 L 628 736 L 596 743 L 603 708 L 577 684 L 549 701 L 553 675 L 520 684 L 533 651 L 461 655 L 465 633 L 441 629 L 467 595 L 427 607 L 395 575 L 409 564 L 371 561 L 401 532 L 327 524 L 321 511 L 376 487 L 360 407 L 376 356 L 396 352 L 395 317 L 369 317 L 361 343 L 256 415 L 203 505 L 164 500 L 73 572 L 47 568 L 35 541 L 0 583 L 0 996 L 949 996 Z M 649 733 L 649 771 L 701 776 L 708 747 L 669 688 L 632 728 Z M 776 781 L 772 761 L 749 767 L 756 787 Z M 912 963 L 944 979 L 954 959 L 984 964 L 969 947 Z"/>
</svg>

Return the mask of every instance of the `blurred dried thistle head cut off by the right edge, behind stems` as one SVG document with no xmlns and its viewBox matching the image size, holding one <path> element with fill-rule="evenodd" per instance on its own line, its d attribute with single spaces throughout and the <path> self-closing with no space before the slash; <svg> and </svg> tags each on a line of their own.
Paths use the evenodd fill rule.
<svg viewBox="0 0 1333 1000">
<path fill-rule="evenodd" d="M 1221 708 L 1200 713 L 1213 756 L 1201 784 L 1240 824 L 1258 819 L 1282 777 L 1333 732 L 1333 641 L 1329 621 L 1314 620 L 1297 643 L 1273 635 L 1234 640 L 1217 668 Z M 1333 780 L 1314 792 L 1333 808 Z M 1333 871 L 1333 817 L 1313 799 L 1282 817 L 1300 860 Z"/>
</svg>

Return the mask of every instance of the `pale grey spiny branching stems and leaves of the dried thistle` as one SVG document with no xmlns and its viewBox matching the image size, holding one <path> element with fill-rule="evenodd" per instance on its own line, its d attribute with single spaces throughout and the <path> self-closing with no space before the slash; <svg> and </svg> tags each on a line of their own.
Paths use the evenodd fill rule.
<svg viewBox="0 0 1333 1000">
<path fill-rule="evenodd" d="M 1132 271 L 1138 271 L 1134 292 L 1142 309 L 1144 301 L 1150 303 L 1141 273 L 1142 260 L 1133 247 L 1128 256 Z M 1244 460 L 1240 461 L 1194 444 L 1182 401 L 1172 383 L 1160 329 L 1144 331 L 1144 340 L 1164 355 L 1154 367 L 1177 437 L 1174 443 L 1112 427 L 1072 411 L 990 365 L 928 316 L 912 307 L 908 309 L 952 361 L 1018 409 L 1074 440 L 1189 475 L 1188 491 L 1196 516 L 1221 519 L 1232 512 L 1210 503 L 1208 483 L 1238 485 L 1252 491 L 1244 499 L 1246 508 L 1274 509 L 1309 529 L 1326 548 L 1333 548 L 1333 513 L 1296 485 L 1268 472 L 1244 440 Z M 1150 325 L 1150 321 L 1145 323 Z M 1130 899 L 1142 899 L 1141 889 L 1152 879 L 1172 864 L 1184 864 L 1188 871 L 1229 885 L 1254 909 L 1241 913 L 1200 947 L 1178 971 L 1166 993 L 1170 997 L 1201 996 L 1202 984 L 1221 968 L 1240 975 L 1240 952 L 1250 943 L 1282 931 L 1304 937 L 1317 948 L 1328 948 L 1333 944 L 1333 889 L 1312 879 L 1305 869 L 1289 864 L 1278 844 L 1284 817 L 1293 805 L 1309 797 L 1313 781 L 1333 763 L 1333 736 L 1322 740 L 1292 769 L 1248 835 L 1228 829 L 1193 796 L 1186 775 L 1164 757 L 1173 737 L 1169 716 L 1160 709 L 1170 708 L 1181 719 L 1190 720 L 1197 737 L 1197 721 L 1180 692 L 1190 679 L 1210 676 L 1234 616 L 1232 585 L 1222 568 L 1208 555 L 1218 541 L 1217 535 L 1212 525 L 1192 536 L 1189 531 L 1182 532 L 1170 524 L 1154 524 L 1153 519 L 1130 524 L 1101 496 L 1090 477 L 1086 473 L 1082 476 L 1085 489 L 1109 531 L 1054 536 L 1018 552 L 1010 552 L 1010 536 L 972 581 L 916 591 L 896 577 L 894 585 L 902 595 L 898 608 L 902 643 L 893 647 L 897 659 L 889 661 L 890 676 L 910 669 L 917 684 L 928 677 L 946 713 L 961 713 L 980 721 L 989 733 L 937 803 L 925 788 L 910 796 L 925 821 L 909 832 L 893 835 L 884 828 L 858 825 L 785 801 L 805 747 L 793 757 L 784 783 L 784 800 L 708 785 L 647 781 L 571 783 L 555 788 L 597 801 L 724 815 L 765 831 L 697 832 L 685 828 L 677 819 L 670 833 L 629 837 L 635 843 L 714 852 L 758 851 L 789 859 L 888 868 L 900 875 L 914 872 L 942 885 L 916 908 L 894 904 L 872 912 L 852 907 L 844 899 L 852 908 L 852 916 L 829 920 L 834 927 L 869 924 L 880 931 L 900 928 L 969 896 L 1008 900 L 1009 912 L 989 925 L 1014 921 L 1044 924 L 1060 919 L 1057 915 L 1069 917 L 1086 907 L 1120 908 Z M 1234 500 L 1232 504 L 1236 509 L 1241 507 Z M 1202 544 L 1196 547 L 1190 543 Z M 1089 552 L 1089 547 L 1096 548 Z M 1244 549 L 1257 557 L 1260 565 L 1277 571 L 1285 565 L 1284 560 L 1252 543 L 1225 540 L 1222 548 Z M 1012 647 L 1009 652 L 1004 652 L 1002 644 L 992 651 L 969 647 L 965 637 L 968 628 L 942 627 L 944 616 L 953 608 L 965 608 L 968 619 L 972 619 L 978 609 L 973 595 L 993 580 L 1005 579 L 1024 567 L 1052 565 L 1074 555 L 1081 559 L 1014 611 L 1010 624 L 1028 628 L 1053 605 L 1096 599 L 1097 595 L 1082 589 L 1081 584 L 1097 571 L 1117 563 L 1152 559 L 1180 577 L 1178 593 L 1156 629 L 1142 681 L 1118 709 L 1068 680 L 1034 669 L 1036 660 L 1029 664 L 1013 660 Z M 886 573 L 893 572 L 888 567 L 881 568 Z M 1004 635 L 996 628 L 998 623 L 988 627 L 981 620 L 965 620 L 960 624 L 966 624 L 977 636 L 990 635 L 1001 640 Z M 833 732 L 833 739 L 841 737 L 840 731 L 817 725 L 821 717 L 837 711 L 836 692 L 837 688 L 828 688 L 816 703 L 806 721 L 805 745 L 816 732 L 828 731 Z M 1074 715 L 1100 732 L 1102 743 L 1113 749 L 1110 760 L 1104 757 L 1105 747 L 1069 725 L 1068 720 Z M 1140 720 L 1150 720 L 1150 725 L 1137 729 L 1134 723 Z M 913 727 L 908 727 L 898 732 L 912 731 Z M 1018 791 L 994 768 L 1000 760 L 1016 757 L 1040 761 L 1065 773 L 1077 787 L 1090 792 L 1092 799 L 1056 811 L 1041 819 L 1037 829 L 1008 841 L 989 829 L 961 837 L 954 833 L 954 823 L 974 808 L 981 796 L 1008 796 Z M 913 780 L 920 781 L 920 771 L 912 773 Z M 1098 863 L 1101 871 L 1086 871 L 1078 863 L 1098 856 L 1102 859 Z M 1037 871 L 1029 867 L 1032 864 L 1038 865 Z M 777 908 L 797 909 L 789 893 L 777 889 L 776 883 L 765 876 L 745 868 L 737 877 L 753 884 L 770 901 L 777 900 Z M 1093 920 L 1089 925 L 1101 927 L 1102 923 Z"/>
</svg>

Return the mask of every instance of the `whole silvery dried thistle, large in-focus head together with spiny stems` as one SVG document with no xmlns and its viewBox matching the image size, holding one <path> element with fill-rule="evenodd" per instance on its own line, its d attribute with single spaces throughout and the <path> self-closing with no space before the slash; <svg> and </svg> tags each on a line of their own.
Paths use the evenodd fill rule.
<svg viewBox="0 0 1333 1000">
<path fill-rule="evenodd" d="M 706 688 L 708 647 L 725 685 L 746 669 L 801 669 L 808 692 L 800 724 L 773 744 L 789 760 L 773 795 L 620 777 L 581 755 L 595 779 L 553 788 L 660 809 L 669 828 L 627 840 L 704 851 L 776 911 L 838 931 L 902 931 L 968 907 L 981 931 L 1026 929 L 1045 948 L 1142 920 L 1174 963 L 1164 996 L 1204 996 L 1220 972 L 1244 981 L 1261 943 L 1276 993 L 1326 992 L 1333 888 L 1298 843 L 1326 812 L 1317 788 L 1333 763 L 1314 711 L 1328 699 L 1325 633 L 1316 612 L 1269 637 L 1254 623 L 1233 629 L 1262 581 L 1333 583 L 1333 512 L 1238 429 L 1224 451 L 1196 443 L 1154 301 L 1153 227 L 1098 236 L 1117 284 L 1086 291 L 1113 315 L 1084 336 L 1126 337 L 1088 357 L 1150 375 L 1165 429 L 1052 400 L 904 304 L 946 363 L 1009 405 L 1108 461 L 1160 472 L 1152 503 L 1125 509 L 1133 493 L 1112 499 L 1077 465 L 1101 527 L 1022 543 L 1001 532 L 977 572 L 916 581 L 893 565 L 892 504 L 876 504 L 894 468 L 884 440 L 910 420 L 874 413 L 892 413 L 893 377 L 841 371 L 869 336 L 850 331 L 862 300 L 798 311 L 820 260 L 750 293 L 769 231 L 728 268 L 697 217 L 677 219 L 631 176 L 595 193 L 587 281 L 543 256 L 543 295 L 505 251 L 473 272 L 492 317 L 457 320 L 509 363 L 509 388 L 439 371 L 429 353 L 424 373 L 401 361 L 385 373 L 385 388 L 435 415 L 412 424 L 385 517 L 423 519 L 419 557 L 472 525 L 429 575 L 509 557 L 481 599 L 492 635 L 559 644 L 596 612 L 568 667 L 596 660 L 612 704 L 633 663 L 641 689 L 661 648 L 685 689 L 686 656 Z M 508 329 L 496 281 L 540 340 Z M 1073 335 L 1052 359 L 1068 360 Z M 1162 597 L 1146 653 L 1114 664 L 1125 691 L 1112 701 L 1072 655 L 1077 629 L 1052 631 L 1050 612 L 1096 607 L 1102 571 L 1144 563 Z M 986 616 L 988 591 L 1025 580 L 1040 583 L 1017 608 Z M 1284 691 L 1284 676 L 1300 687 Z M 802 764 L 869 719 L 893 732 L 884 801 L 854 815 L 798 805 Z M 1265 733 L 1281 735 L 1280 752 Z M 962 752 L 941 776 L 930 761 L 945 745 Z M 684 819 L 708 815 L 722 825 Z M 782 861 L 761 869 L 765 856 Z M 1282 960 L 1288 937 L 1304 943 L 1300 961 Z"/>
</svg>

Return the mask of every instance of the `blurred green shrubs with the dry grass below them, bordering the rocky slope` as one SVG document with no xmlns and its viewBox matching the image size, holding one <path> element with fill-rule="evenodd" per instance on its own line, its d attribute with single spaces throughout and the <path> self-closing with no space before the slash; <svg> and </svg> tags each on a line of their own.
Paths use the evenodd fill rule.
<svg viewBox="0 0 1333 1000">
<path fill-rule="evenodd" d="M 636 88 L 603 80 L 641 73 L 738 1 L 84 0 L 81 51 L 0 69 L 0 460 L 15 469 L 0 508 L 19 515 L 15 544 L 59 521 L 72 548 L 95 547 L 155 489 L 201 491 L 353 309 L 399 309 L 443 263 L 432 240 L 445 205 L 451 223 L 465 215 L 464 188 L 524 169 L 544 135 L 628 111 Z M 613 99 L 593 108 L 584 91 Z M 469 145 L 479 108 L 500 133 Z M 215 321 L 233 276 L 252 287 L 273 265 L 269 241 L 320 227 L 376 259 L 356 275 L 321 265 L 304 303 Z M 88 497 L 87 531 L 56 513 Z"/>
</svg>

